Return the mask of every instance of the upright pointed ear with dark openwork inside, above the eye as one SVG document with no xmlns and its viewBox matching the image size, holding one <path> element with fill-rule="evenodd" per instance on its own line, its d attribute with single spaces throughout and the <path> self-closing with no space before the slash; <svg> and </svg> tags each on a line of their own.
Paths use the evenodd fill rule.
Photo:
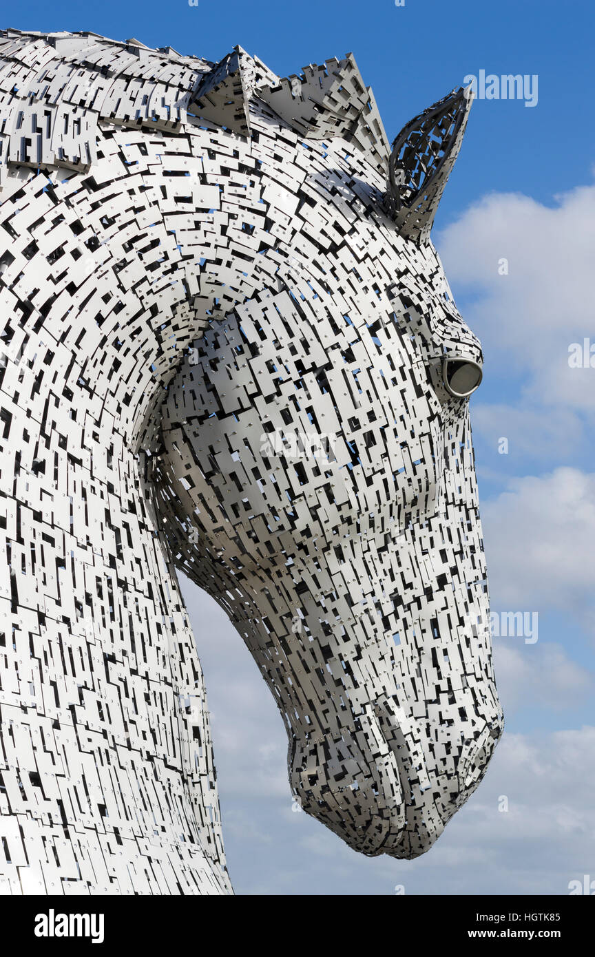
<svg viewBox="0 0 595 957">
<path fill-rule="evenodd" d="M 472 101 L 470 86 L 453 90 L 408 122 L 392 145 L 386 209 L 408 239 L 422 243 L 430 237 Z"/>
</svg>

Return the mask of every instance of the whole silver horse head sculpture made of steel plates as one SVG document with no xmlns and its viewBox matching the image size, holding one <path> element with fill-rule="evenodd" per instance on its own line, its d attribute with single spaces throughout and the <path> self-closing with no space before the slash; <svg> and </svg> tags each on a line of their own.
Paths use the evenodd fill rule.
<svg viewBox="0 0 595 957">
<path fill-rule="evenodd" d="M 3 893 L 231 892 L 176 568 L 352 848 L 417 857 L 480 781 L 481 351 L 429 238 L 469 106 L 390 148 L 352 56 L 1 34 Z"/>
</svg>

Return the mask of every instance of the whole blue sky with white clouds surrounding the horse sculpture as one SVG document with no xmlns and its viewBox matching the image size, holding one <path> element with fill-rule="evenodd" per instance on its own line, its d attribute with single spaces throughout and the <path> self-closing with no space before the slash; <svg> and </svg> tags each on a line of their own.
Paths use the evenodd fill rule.
<svg viewBox="0 0 595 957">
<path fill-rule="evenodd" d="M 352 51 L 391 139 L 467 75 L 539 77 L 535 107 L 475 101 L 434 230 L 485 351 L 472 421 L 493 610 L 539 612 L 539 640 L 495 638 L 506 735 L 429 855 L 370 860 L 292 811 L 274 701 L 222 612 L 193 586 L 185 593 L 237 893 L 565 894 L 568 881 L 595 878 L 595 368 L 567 363 L 568 345 L 595 342 L 592 5 L 31 0 L 3 20 L 136 36 L 213 60 L 239 43 L 281 76 Z"/>
</svg>

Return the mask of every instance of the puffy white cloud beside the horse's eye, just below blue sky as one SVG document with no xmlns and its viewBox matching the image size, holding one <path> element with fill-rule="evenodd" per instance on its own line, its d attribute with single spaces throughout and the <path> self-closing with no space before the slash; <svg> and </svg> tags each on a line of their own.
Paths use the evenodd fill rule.
<svg viewBox="0 0 595 957">
<path fill-rule="evenodd" d="M 505 373 L 528 373 L 534 400 L 593 412 L 595 368 L 569 368 L 568 346 L 595 342 L 595 187 L 556 202 L 490 194 L 442 231 L 437 246 L 455 291 L 475 294 L 465 318 Z M 508 275 L 498 275 L 502 258 Z"/>
</svg>

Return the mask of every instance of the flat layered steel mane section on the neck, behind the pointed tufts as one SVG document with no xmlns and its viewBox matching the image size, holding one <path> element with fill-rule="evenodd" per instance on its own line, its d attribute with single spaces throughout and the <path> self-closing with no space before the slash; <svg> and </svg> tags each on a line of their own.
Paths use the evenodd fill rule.
<svg viewBox="0 0 595 957">
<path fill-rule="evenodd" d="M 88 171 L 99 122 L 179 131 L 213 66 L 135 39 L 0 31 L 0 184 L 13 165 Z"/>
</svg>

